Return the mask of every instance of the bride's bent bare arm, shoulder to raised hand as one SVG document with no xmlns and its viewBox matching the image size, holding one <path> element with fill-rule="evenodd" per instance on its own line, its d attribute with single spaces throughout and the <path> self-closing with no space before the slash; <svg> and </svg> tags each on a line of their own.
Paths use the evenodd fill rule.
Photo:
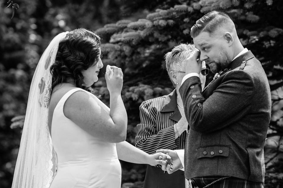
<svg viewBox="0 0 283 188">
<path fill-rule="evenodd" d="M 64 114 L 90 135 L 117 143 L 126 140 L 128 117 L 121 98 L 123 73 L 118 67 L 112 68 L 113 78 L 105 75 L 110 93 L 110 114 L 97 99 L 84 91 L 77 91 L 67 99 Z"/>
</svg>

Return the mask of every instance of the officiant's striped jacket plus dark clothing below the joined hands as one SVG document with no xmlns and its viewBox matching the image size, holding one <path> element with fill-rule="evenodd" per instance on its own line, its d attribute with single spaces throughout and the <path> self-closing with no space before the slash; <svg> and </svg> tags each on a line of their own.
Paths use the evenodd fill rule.
<svg viewBox="0 0 283 188">
<path fill-rule="evenodd" d="M 181 119 L 177 108 L 176 89 L 169 95 L 153 98 L 141 103 L 141 123 L 137 125 L 136 147 L 149 153 L 158 149 L 184 149 L 187 132 L 175 140 L 174 125 Z M 168 174 L 161 167 L 147 165 L 144 188 L 185 188 L 184 172 L 178 170 Z"/>
</svg>

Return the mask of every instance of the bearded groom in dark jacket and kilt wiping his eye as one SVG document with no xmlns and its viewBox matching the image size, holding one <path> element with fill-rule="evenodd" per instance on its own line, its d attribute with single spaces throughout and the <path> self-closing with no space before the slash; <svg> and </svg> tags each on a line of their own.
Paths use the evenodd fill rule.
<svg viewBox="0 0 283 188">
<path fill-rule="evenodd" d="M 205 14 L 191 36 L 200 52 L 187 59 L 180 87 L 190 125 L 185 164 L 184 150 L 158 150 L 173 159 L 162 169 L 172 173 L 185 167 L 185 177 L 198 187 L 263 187 L 271 95 L 261 63 L 243 48 L 233 21 L 222 12 Z M 199 53 L 216 73 L 203 92 Z"/>
</svg>

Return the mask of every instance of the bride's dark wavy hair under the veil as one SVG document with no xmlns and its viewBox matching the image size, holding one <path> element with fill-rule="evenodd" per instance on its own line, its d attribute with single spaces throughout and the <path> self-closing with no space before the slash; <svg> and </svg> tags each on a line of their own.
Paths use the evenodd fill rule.
<svg viewBox="0 0 283 188">
<path fill-rule="evenodd" d="M 100 56 L 100 37 L 84 28 L 70 31 L 60 41 L 55 63 L 50 67 L 52 89 L 55 85 L 74 80 L 76 87 L 84 86 L 82 70 L 98 62 Z"/>
</svg>

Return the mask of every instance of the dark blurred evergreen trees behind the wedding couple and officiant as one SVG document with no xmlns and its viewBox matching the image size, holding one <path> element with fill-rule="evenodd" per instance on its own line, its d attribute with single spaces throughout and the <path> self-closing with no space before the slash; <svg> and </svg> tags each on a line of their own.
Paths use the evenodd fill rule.
<svg viewBox="0 0 283 188">
<path fill-rule="evenodd" d="M 265 187 L 283 187 L 283 1 L 281 0 L 0 0 L 0 187 L 11 187 L 35 67 L 49 41 L 75 28 L 102 37 L 106 65 L 124 72 L 122 97 L 128 112 L 127 141 L 134 144 L 142 101 L 173 90 L 164 54 L 191 43 L 190 28 L 208 11 L 226 12 L 244 47 L 261 61 L 272 92 L 265 152 Z M 94 88 L 109 104 L 104 75 Z M 207 78 L 209 82 L 212 74 Z M 260 101 L 258 101 L 260 102 Z M 13 118 L 14 117 L 14 118 Z M 12 119 L 13 118 L 13 119 Z M 11 123 L 12 120 L 12 123 Z M 142 187 L 146 165 L 121 162 L 122 187 Z"/>
</svg>

